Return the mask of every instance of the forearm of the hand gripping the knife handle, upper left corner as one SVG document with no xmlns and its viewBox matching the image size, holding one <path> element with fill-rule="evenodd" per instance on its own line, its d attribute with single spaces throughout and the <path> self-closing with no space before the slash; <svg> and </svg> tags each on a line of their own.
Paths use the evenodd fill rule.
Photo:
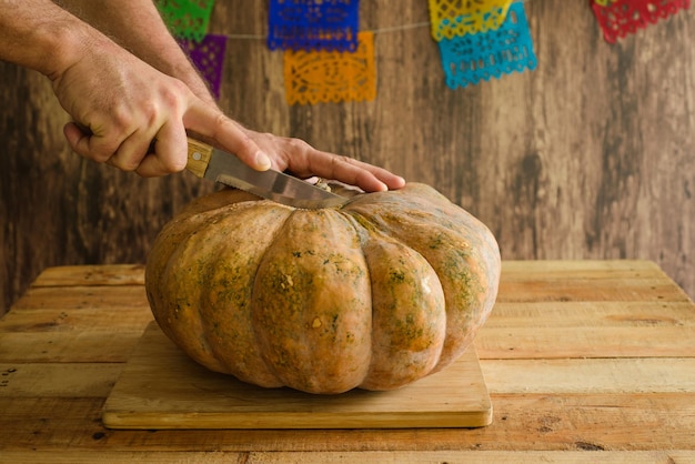
<svg viewBox="0 0 695 464">
<path fill-rule="evenodd" d="M 98 32 L 50 0 L 0 0 L 0 59 L 53 79 Z"/>
</svg>

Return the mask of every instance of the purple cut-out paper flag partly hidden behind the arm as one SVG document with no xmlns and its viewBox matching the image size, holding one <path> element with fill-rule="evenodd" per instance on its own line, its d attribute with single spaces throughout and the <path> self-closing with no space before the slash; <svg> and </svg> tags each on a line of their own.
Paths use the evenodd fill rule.
<svg viewBox="0 0 695 464">
<path fill-rule="evenodd" d="M 226 51 L 226 36 L 208 34 L 202 41 L 179 40 L 179 44 L 200 71 L 215 99 L 220 98 L 220 83 Z"/>
</svg>

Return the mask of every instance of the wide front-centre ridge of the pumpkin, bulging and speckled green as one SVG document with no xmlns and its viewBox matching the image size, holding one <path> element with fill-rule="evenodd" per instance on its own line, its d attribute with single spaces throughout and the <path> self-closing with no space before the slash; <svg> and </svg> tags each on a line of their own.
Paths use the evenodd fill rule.
<svg viewBox="0 0 695 464">
<path fill-rule="evenodd" d="M 264 291 L 253 300 L 262 352 L 283 383 L 310 393 L 359 385 L 370 355 L 364 271 L 359 238 L 339 211 L 298 210 L 285 223 L 259 265 L 255 288 Z"/>
</svg>

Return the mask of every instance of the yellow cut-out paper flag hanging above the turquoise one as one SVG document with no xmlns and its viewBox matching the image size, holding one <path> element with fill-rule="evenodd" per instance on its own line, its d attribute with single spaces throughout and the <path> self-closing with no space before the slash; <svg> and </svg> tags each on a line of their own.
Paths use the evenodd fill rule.
<svg viewBox="0 0 695 464">
<path fill-rule="evenodd" d="M 437 42 L 498 29 L 512 0 L 429 0 L 432 38 Z"/>
</svg>

